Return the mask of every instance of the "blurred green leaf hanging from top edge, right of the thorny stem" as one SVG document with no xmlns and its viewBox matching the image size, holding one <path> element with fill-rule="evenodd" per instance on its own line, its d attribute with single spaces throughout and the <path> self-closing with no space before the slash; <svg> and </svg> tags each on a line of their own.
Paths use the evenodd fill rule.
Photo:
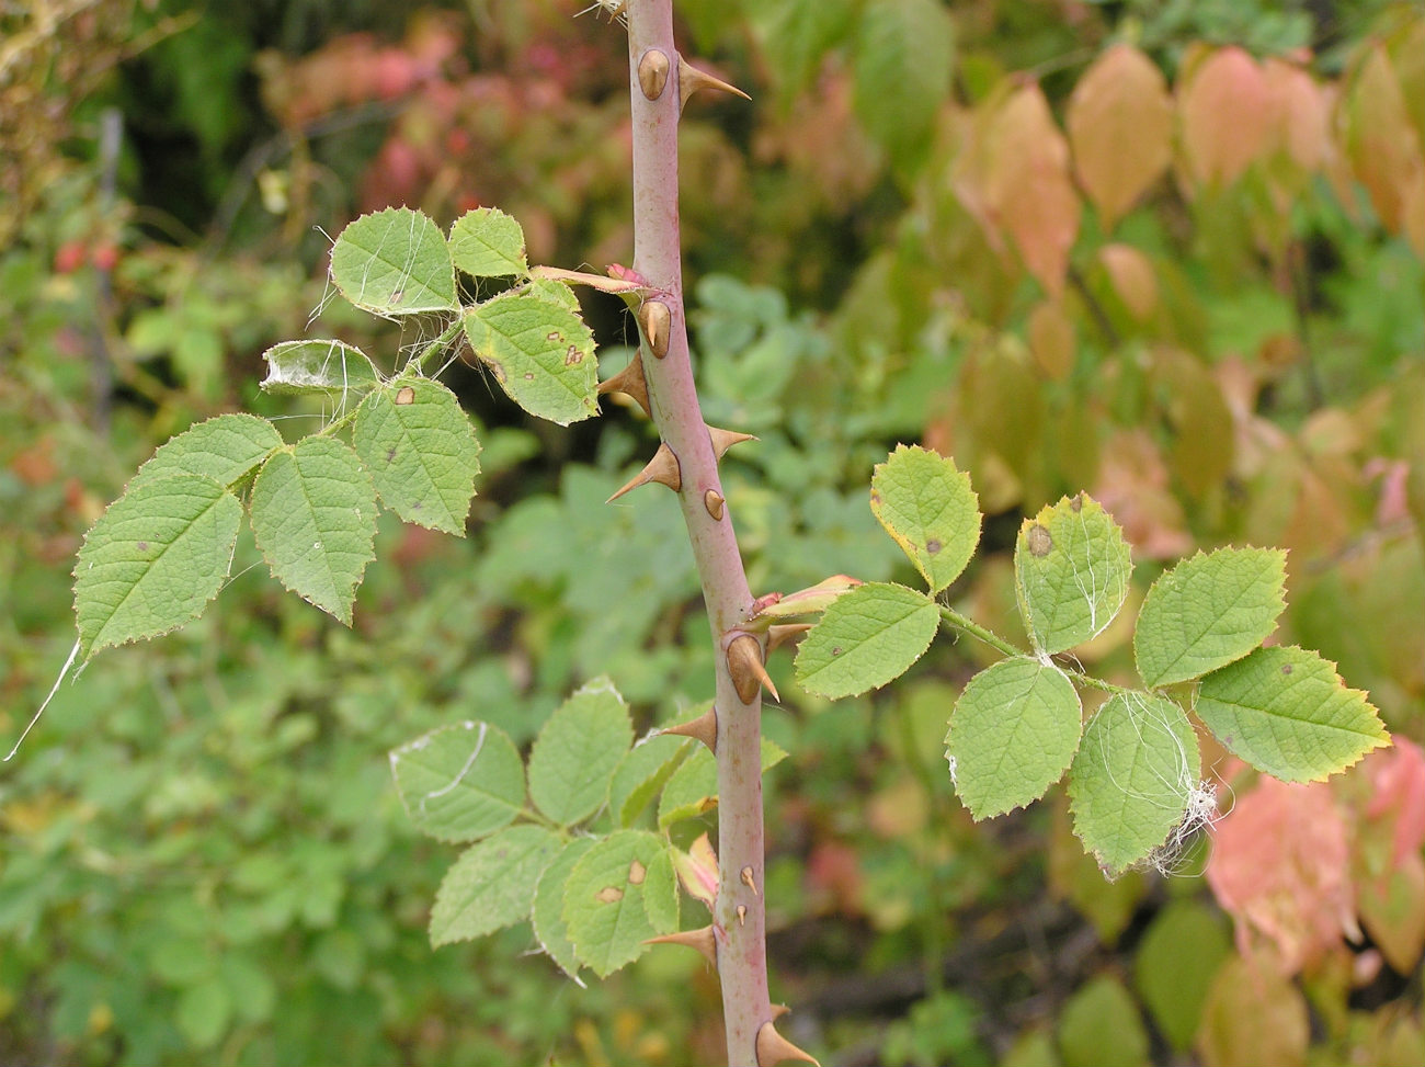
<svg viewBox="0 0 1425 1067">
<path fill-rule="evenodd" d="M 856 117 L 909 173 L 950 91 L 950 16 L 933 0 L 878 0 L 862 7 L 854 41 Z"/>
</svg>

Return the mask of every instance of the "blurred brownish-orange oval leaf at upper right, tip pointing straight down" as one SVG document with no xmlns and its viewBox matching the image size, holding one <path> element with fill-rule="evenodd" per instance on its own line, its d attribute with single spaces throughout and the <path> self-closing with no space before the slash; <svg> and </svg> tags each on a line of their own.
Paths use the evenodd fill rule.
<svg viewBox="0 0 1425 1067">
<path fill-rule="evenodd" d="M 1113 230 L 1171 161 L 1173 104 L 1153 61 L 1130 44 L 1103 53 L 1069 98 L 1079 184 Z"/>
</svg>

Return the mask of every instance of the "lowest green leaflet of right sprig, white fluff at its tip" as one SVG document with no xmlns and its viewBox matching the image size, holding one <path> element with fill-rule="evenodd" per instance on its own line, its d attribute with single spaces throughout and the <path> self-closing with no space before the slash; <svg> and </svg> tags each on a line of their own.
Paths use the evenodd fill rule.
<svg viewBox="0 0 1425 1067">
<path fill-rule="evenodd" d="M 1200 770 L 1181 708 L 1151 693 L 1114 695 L 1089 720 L 1069 769 L 1074 833 L 1119 874 L 1183 820 Z"/>
</svg>

